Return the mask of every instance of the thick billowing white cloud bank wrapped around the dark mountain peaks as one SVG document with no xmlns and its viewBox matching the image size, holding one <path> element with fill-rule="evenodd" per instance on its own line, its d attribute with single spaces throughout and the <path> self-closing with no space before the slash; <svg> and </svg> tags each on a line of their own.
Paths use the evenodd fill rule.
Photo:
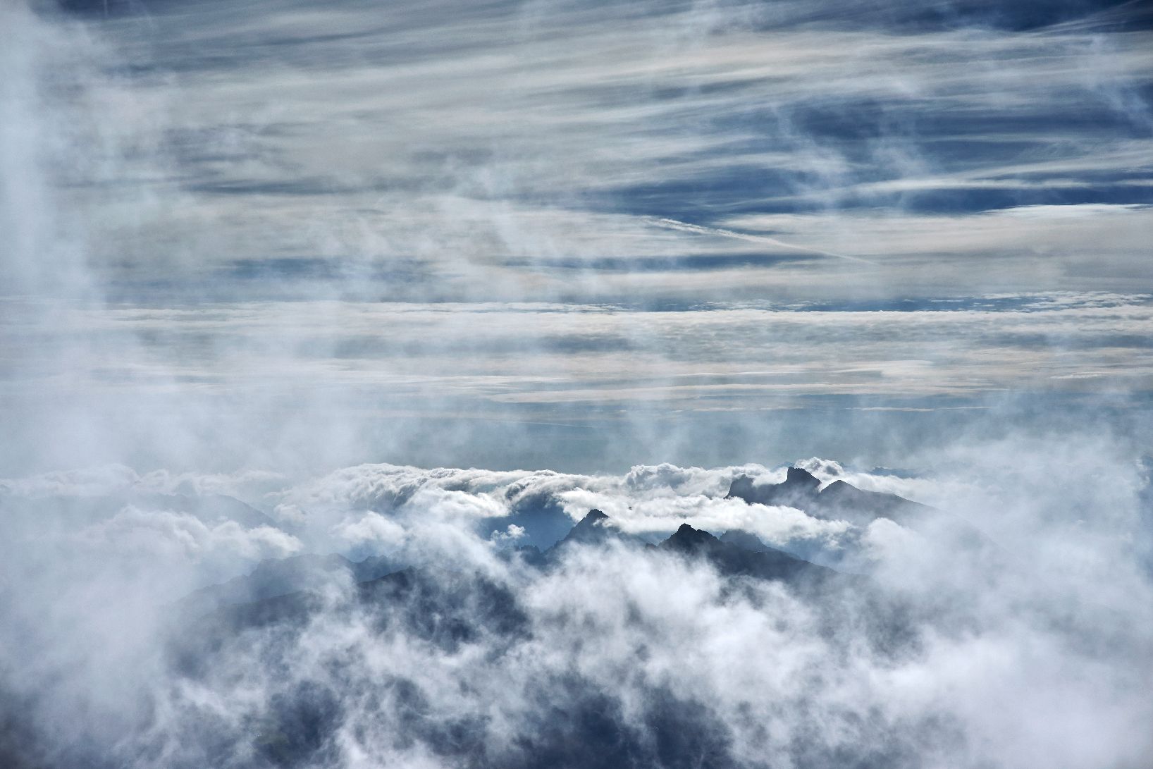
<svg viewBox="0 0 1153 769">
<path fill-rule="evenodd" d="M 398 715 L 410 698 L 422 703 L 422 724 L 457 724 L 488 755 L 512 756 L 523 734 L 543 739 L 549 723 L 575 723 L 557 721 L 542 702 L 580 713 L 590 693 L 605 698 L 596 701 L 602 713 L 639 733 L 649 733 L 654 702 L 676 698 L 696 708 L 687 723 L 725 734 L 723 749 L 752 763 L 872 751 L 960 766 L 1123 766 L 1150 747 L 1138 727 L 1150 715 L 1148 681 L 1133 671 L 1147 670 L 1143 606 L 1153 605 L 1139 601 L 1148 581 L 1121 536 L 1141 482 L 1140 468 L 1123 457 L 1103 439 L 1048 454 L 1019 442 L 974 444 L 940 455 L 932 473 L 915 477 L 804 460 L 861 485 L 905 484 L 926 497 L 951 497 L 954 512 L 993 523 L 996 538 L 1012 548 L 1011 558 L 997 551 L 970 563 L 948 530 L 912 533 L 881 519 L 859 533 L 877 568 L 864 595 L 830 595 L 826 603 L 628 546 L 571 549 L 537 573 L 495 557 L 493 545 L 520 541 L 526 527 L 497 526 L 491 537 L 473 529 L 480 518 L 506 512 L 508 499 L 543 493 L 573 517 L 595 502 L 636 533 L 688 521 L 717 533 L 745 528 L 773 544 L 829 546 L 852 534 L 846 523 L 801 511 L 724 499 L 736 475 L 782 480 L 781 470 L 756 465 L 663 463 L 597 476 L 360 466 L 301 480 L 280 495 L 302 505 L 306 523 L 315 519 L 296 536 L 127 508 L 54 540 L 48 549 L 75 571 L 23 567 L 32 553 L 12 541 L 5 568 L 27 579 L 59 578 L 28 583 L 30 595 L 54 596 L 37 625 L 45 631 L 37 643 L 51 654 L 29 674 L 43 680 L 58 662 L 71 671 L 70 688 L 42 689 L 43 696 L 63 698 L 65 713 L 76 702 L 122 713 L 126 692 L 144 691 L 158 703 L 145 732 L 114 733 L 110 749 L 128 766 L 158 749 L 173 764 L 194 761 L 205 723 L 221 749 L 248 745 L 254 723 L 277 724 L 270 703 L 302 692 L 332 703 L 334 767 L 442 761 L 431 757 L 432 732 Z M 366 499 L 380 507 L 364 507 Z M 1091 499 L 1111 510 L 1086 520 Z M 187 570 L 235 573 L 229 570 L 256 558 L 324 552 L 334 543 L 402 553 L 436 580 L 444 593 L 435 595 L 465 593 L 445 613 L 421 615 L 410 625 L 401 616 L 378 621 L 376 609 L 347 604 L 337 586 L 314 621 L 292 634 L 266 628 L 225 644 L 204 676 L 173 677 L 163 666 L 157 610 L 149 605 L 171 600 L 181 585 L 188 589 Z M 475 573 L 512 591 L 508 601 L 532 632 L 506 635 L 485 624 L 492 596 L 468 593 Z M 1118 612 L 1109 606 L 1120 595 L 1128 608 Z M 379 609 L 400 611 L 404 602 Z M 480 623 L 478 629 L 462 642 L 427 635 L 428 623 L 458 621 Z M 911 625 L 896 633 L 890 621 Z M 151 629 L 125 638 L 126 625 Z M 195 639 L 199 629 L 181 632 Z M 81 631 L 100 643 L 71 644 Z M 110 676 L 119 679 L 115 687 Z M 121 694 L 100 699 L 98 692 Z M 1083 738 L 1086 724 L 1105 738 Z"/>
</svg>

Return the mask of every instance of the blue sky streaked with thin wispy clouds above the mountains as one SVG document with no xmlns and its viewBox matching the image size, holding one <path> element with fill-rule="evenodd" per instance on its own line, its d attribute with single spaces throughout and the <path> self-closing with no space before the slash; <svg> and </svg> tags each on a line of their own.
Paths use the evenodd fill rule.
<svg viewBox="0 0 1153 769">
<path fill-rule="evenodd" d="M 1148 425 L 1143 3 L 3 13 L 22 472 Z"/>
</svg>

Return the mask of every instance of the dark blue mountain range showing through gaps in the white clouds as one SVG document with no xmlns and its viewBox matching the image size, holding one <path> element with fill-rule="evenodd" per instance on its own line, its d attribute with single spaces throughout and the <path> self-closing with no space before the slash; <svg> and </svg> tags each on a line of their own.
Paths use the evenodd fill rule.
<svg viewBox="0 0 1153 769">
<path fill-rule="evenodd" d="M 806 474 L 807 475 L 807 474 Z M 811 476 L 809 476 L 811 477 Z M 776 487 L 756 487 L 738 480 L 733 496 L 747 493 L 754 499 L 809 503 L 816 484 L 798 472 Z M 843 500 L 851 492 L 835 491 Z M 807 497 L 805 495 L 808 495 Z M 921 506 L 886 495 L 867 499 L 879 511 L 899 510 L 915 514 Z M 830 497 L 826 497 L 827 504 Z M 822 508 L 824 511 L 831 507 Z M 612 551 L 615 556 L 645 559 L 669 558 L 708 564 L 722 578 L 722 591 L 739 591 L 756 600 L 770 583 L 787 586 L 789 593 L 805 602 L 816 623 L 815 631 L 832 639 L 850 631 L 861 641 L 884 654 L 902 654 L 918 643 L 907 610 L 899 601 L 881 596 L 868 578 L 839 573 L 809 563 L 762 542 L 748 531 L 730 530 L 722 536 L 683 523 L 658 543 L 647 542 L 615 526 L 600 510 L 590 510 L 553 545 L 541 550 L 533 545 L 500 551 L 503 558 L 520 568 L 497 576 L 476 567 L 452 564 L 399 567 L 385 558 L 360 563 L 340 556 L 296 556 L 265 561 L 251 574 L 198 590 L 173 606 L 173 632 L 167 646 L 168 662 L 188 681 L 217 681 L 232 674 L 228 661 L 258 658 L 262 665 L 292 664 L 292 649 L 308 648 L 309 639 L 324 627 L 357 627 L 382 639 L 402 639 L 405 646 L 422 644 L 452 659 L 483 647 L 487 655 L 511 655 L 536 648 L 542 608 L 533 603 L 536 580 L 570 579 L 570 556 L 588 551 Z M 598 568 L 597 560 L 582 560 L 580 570 Z M 610 563 L 605 560 L 605 563 Z M 620 560 L 616 561 L 618 565 Z M 624 561 L 626 565 L 630 561 Z M 651 563 L 651 561 L 648 561 Z M 630 568 L 632 566 L 628 566 Z M 340 586 L 339 590 L 329 590 Z M 574 586 L 575 588 L 575 586 Z M 846 609 L 852 606 L 852 609 Z M 196 616 L 189 624 L 189 618 Z M 580 626 L 579 618 L 560 619 Z M 627 620 L 626 621 L 632 621 Z M 598 639 L 579 639 L 589 644 Z M 393 704 L 389 718 L 425 745 L 440 760 L 462 767 L 736 767 L 725 742 L 725 727 L 708 713 L 672 689 L 651 688 L 632 725 L 620 711 L 620 702 L 606 698 L 595 684 L 581 677 L 540 683 L 541 718 L 500 756 L 487 755 L 490 726 L 483 721 L 453 722 L 432 718 L 420 689 L 404 678 L 389 681 L 363 679 L 361 663 L 340 663 L 339 678 L 348 691 L 308 686 L 293 689 L 267 703 L 267 714 L 254 724 L 253 766 L 323 766 L 333 749 L 332 734 L 340 729 L 346 701 L 376 696 L 384 686 Z M 334 673 L 336 674 L 336 673 Z M 363 680 L 362 680 L 363 679 Z M 535 691 L 535 689 L 534 689 Z M 352 692 L 353 694 L 349 694 Z M 560 698 L 563 709 L 549 708 Z M 342 704 L 344 703 L 344 704 Z M 635 721 L 635 718 L 633 719 Z M 205 740 L 211 742 L 211 732 Z M 209 752 L 221 755 L 235 746 L 221 739 Z M 880 767 L 895 755 L 879 756 Z M 836 756 L 799 756 L 796 766 L 835 766 Z"/>
</svg>

